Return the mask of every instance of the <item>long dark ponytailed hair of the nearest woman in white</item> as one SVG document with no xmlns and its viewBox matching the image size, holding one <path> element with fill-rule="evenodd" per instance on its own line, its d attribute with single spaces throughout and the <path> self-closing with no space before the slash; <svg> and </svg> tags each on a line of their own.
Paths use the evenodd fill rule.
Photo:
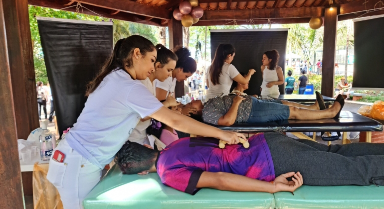
<svg viewBox="0 0 384 209">
<path fill-rule="evenodd" d="M 140 35 L 131 35 L 127 38 L 120 39 L 116 42 L 111 56 L 101 67 L 100 73 L 87 85 L 86 96 L 94 92 L 103 79 L 114 69 L 129 68 L 132 66 L 132 53 L 136 48 L 140 49 L 140 53 L 145 56 L 147 52 L 155 50 L 153 43 Z"/>
</svg>

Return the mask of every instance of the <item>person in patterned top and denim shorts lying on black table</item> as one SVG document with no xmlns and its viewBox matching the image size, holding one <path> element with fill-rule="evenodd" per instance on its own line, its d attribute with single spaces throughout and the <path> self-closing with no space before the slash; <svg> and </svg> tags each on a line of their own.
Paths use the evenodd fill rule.
<svg viewBox="0 0 384 209">
<path fill-rule="evenodd" d="M 192 101 L 189 104 L 197 109 L 204 122 L 230 126 L 236 122 L 270 122 L 285 119 L 316 120 L 338 118 L 344 106 L 343 97 L 338 97 L 334 105 L 326 109 L 323 97 L 316 92 L 316 102 L 312 105 L 298 104 L 285 100 L 258 100 L 250 96 L 228 95 L 215 97 L 205 104 Z"/>
</svg>

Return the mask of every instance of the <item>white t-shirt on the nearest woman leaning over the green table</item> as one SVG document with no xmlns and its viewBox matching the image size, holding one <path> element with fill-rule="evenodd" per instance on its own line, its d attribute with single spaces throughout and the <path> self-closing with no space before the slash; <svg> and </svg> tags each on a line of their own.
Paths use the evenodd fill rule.
<svg viewBox="0 0 384 209">
<path fill-rule="evenodd" d="M 127 141 L 140 117 L 151 115 L 162 106 L 140 81 L 133 80 L 123 70 L 116 70 L 89 95 L 65 140 L 103 169 Z"/>
</svg>

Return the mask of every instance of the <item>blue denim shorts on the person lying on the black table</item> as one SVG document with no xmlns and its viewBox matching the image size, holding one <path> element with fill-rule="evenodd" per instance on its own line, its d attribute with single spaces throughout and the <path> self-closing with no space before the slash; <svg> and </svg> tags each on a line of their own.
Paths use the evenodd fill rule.
<svg viewBox="0 0 384 209">
<path fill-rule="evenodd" d="M 270 122 L 286 120 L 289 117 L 289 106 L 280 100 L 258 100 L 252 97 L 252 109 L 247 122 Z"/>
</svg>

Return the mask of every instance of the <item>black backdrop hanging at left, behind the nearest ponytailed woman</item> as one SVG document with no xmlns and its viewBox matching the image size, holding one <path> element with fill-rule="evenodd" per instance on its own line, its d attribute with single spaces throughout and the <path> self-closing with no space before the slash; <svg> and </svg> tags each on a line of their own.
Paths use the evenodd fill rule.
<svg viewBox="0 0 384 209">
<path fill-rule="evenodd" d="M 112 22 L 37 20 L 60 136 L 77 121 L 86 85 L 113 49 Z"/>
</svg>

